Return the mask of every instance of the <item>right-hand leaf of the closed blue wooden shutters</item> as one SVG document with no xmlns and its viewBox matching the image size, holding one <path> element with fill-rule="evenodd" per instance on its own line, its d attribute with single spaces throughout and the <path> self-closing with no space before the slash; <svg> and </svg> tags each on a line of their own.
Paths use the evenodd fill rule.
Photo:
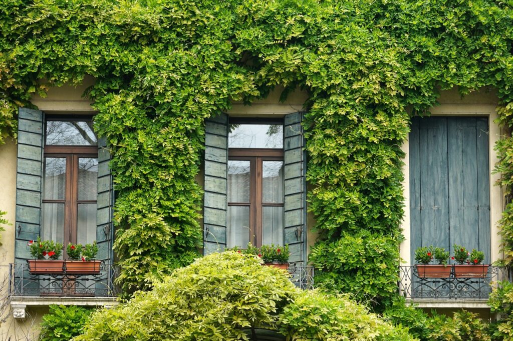
<svg viewBox="0 0 513 341">
<path fill-rule="evenodd" d="M 449 225 L 452 244 L 490 259 L 488 122 L 486 118 L 449 117 Z"/>
</svg>

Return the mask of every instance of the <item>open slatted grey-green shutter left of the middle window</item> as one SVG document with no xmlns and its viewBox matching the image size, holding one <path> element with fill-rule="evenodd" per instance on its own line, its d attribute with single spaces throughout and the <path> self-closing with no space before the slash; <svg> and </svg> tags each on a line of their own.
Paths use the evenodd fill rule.
<svg viewBox="0 0 513 341">
<path fill-rule="evenodd" d="M 205 120 L 205 197 L 203 253 L 226 247 L 226 168 L 228 163 L 228 116 Z"/>
</svg>

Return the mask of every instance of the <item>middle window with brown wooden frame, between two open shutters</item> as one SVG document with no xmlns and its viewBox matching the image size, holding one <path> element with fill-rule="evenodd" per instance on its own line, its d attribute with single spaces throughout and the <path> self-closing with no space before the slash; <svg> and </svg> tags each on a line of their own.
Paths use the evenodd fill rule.
<svg viewBox="0 0 513 341">
<path fill-rule="evenodd" d="M 283 244 L 283 123 L 230 119 L 227 246 Z"/>
</svg>

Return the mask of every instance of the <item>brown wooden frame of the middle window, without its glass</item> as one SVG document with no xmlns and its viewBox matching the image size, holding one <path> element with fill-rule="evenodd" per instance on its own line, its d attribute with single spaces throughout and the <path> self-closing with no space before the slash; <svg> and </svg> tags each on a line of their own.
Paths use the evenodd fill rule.
<svg viewBox="0 0 513 341">
<path fill-rule="evenodd" d="M 282 124 L 275 118 L 230 118 L 229 124 Z M 283 207 L 282 203 L 263 202 L 263 161 L 284 161 L 283 148 L 228 148 L 228 161 L 249 161 L 249 203 L 228 202 L 228 206 L 249 206 L 249 241 L 261 247 L 264 207 Z M 245 246 L 245 245 L 241 245 Z"/>
</svg>

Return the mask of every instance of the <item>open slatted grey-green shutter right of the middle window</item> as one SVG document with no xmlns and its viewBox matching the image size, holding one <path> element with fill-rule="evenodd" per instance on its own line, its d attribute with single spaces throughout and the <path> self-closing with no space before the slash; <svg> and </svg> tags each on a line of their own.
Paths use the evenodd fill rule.
<svg viewBox="0 0 513 341">
<path fill-rule="evenodd" d="M 290 263 L 306 262 L 305 142 L 303 112 L 285 116 L 284 148 L 284 243 L 289 244 Z"/>
</svg>

